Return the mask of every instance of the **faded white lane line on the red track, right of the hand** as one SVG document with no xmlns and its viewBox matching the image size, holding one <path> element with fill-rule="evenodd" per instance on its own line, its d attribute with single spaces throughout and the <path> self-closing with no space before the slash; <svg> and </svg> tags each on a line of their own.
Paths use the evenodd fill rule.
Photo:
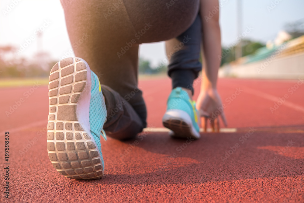
<svg viewBox="0 0 304 203">
<path fill-rule="evenodd" d="M 255 89 L 251 89 L 251 88 L 248 88 L 248 87 L 242 87 L 242 88 L 244 89 L 244 92 L 246 92 L 246 93 L 249 93 L 249 94 L 252 94 L 252 95 L 255 95 L 255 96 L 259 96 L 259 97 L 262 97 L 264 99 L 267 99 L 267 100 L 270 100 L 270 101 L 273 101 L 273 102 L 280 101 L 280 98 L 277 97 L 277 96 L 273 96 L 273 95 L 270 95 L 270 94 L 267 94 L 267 93 L 264 93 L 264 92 L 261 92 L 261 91 L 255 90 Z M 297 110 L 297 111 L 304 112 L 304 107 L 302 107 L 300 105 L 297 105 L 295 103 L 289 102 L 287 100 L 288 99 L 286 99 L 285 102 L 282 103 L 282 105 L 284 105 L 286 107 L 289 107 L 289 108 L 292 108 L 292 109 Z"/>
</svg>

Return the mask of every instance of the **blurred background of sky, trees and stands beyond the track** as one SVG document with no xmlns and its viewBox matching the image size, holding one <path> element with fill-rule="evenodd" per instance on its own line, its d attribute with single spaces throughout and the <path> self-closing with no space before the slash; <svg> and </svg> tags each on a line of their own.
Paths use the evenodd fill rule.
<svg viewBox="0 0 304 203">
<path fill-rule="evenodd" d="M 297 79 L 304 73 L 304 1 L 219 2 L 220 77 Z M 0 11 L 2 86 L 8 79 L 47 78 L 55 62 L 74 57 L 59 0 L 2 0 Z M 141 45 L 140 74 L 165 74 L 166 58 L 164 42 Z"/>
</svg>

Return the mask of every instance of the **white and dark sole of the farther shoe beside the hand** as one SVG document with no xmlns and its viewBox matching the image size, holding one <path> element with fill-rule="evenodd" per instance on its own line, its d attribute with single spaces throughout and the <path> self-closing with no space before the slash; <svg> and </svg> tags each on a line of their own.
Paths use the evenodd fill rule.
<svg viewBox="0 0 304 203">
<path fill-rule="evenodd" d="M 201 136 L 192 124 L 190 116 L 183 110 L 168 110 L 163 117 L 163 125 L 171 130 L 170 135 L 176 138 L 192 137 L 199 139 Z"/>
</svg>

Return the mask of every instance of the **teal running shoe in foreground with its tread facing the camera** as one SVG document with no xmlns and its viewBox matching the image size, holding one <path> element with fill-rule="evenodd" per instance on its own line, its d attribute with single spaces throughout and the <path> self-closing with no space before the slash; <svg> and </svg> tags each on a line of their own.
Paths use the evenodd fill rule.
<svg viewBox="0 0 304 203">
<path fill-rule="evenodd" d="M 67 178 L 97 179 L 104 162 L 100 134 L 107 111 L 98 77 L 81 58 L 56 63 L 49 77 L 47 152 Z"/>
</svg>

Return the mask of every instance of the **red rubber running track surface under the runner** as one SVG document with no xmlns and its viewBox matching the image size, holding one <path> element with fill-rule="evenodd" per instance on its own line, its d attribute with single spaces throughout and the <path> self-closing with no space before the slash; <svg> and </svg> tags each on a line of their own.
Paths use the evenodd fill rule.
<svg viewBox="0 0 304 203">
<path fill-rule="evenodd" d="M 0 89 L 2 146 L 4 131 L 10 132 L 10 199 L 4 198 L 2 179 L 0 202 L 304 202 L 304 85 L 297 82 L 302 84 L 219 79 L 228 127 L 236 133 L 202 133 L 200 140 L 186 142 L 147 132 L 137 145 L 102 140 L 105 176 L 90 181 L 67 179 L 49 161 L 47 86 L 28 96 L 31 87 Z M 170 80 L 141 80 L 139 86 L 148 126 L 162 127 Z M 21 98 L 7 117 L 5 111 Z M 250 129 L 254 133 L 246 138 Z"/>
</svg>

